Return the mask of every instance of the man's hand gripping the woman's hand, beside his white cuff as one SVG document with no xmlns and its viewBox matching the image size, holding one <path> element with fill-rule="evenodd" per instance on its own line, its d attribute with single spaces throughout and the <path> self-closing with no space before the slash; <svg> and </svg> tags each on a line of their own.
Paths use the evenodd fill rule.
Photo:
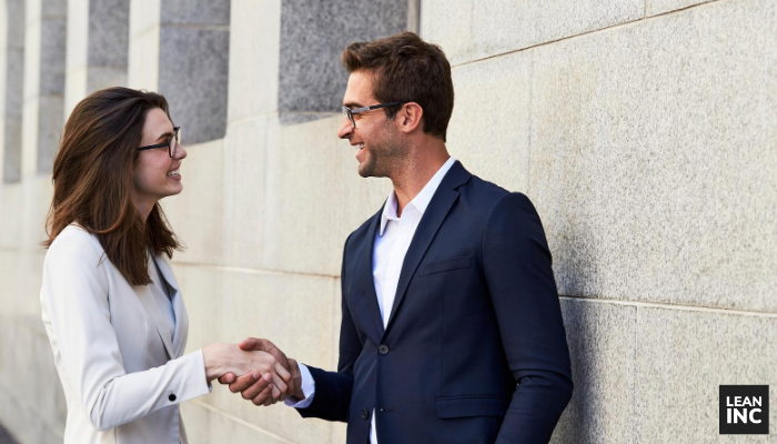
<svg viewBox="0 0 777 444">
<path fill-rule="evenodd" d="M 287 386 L 290 396 L 299 400 L 304 398 L 302 392 L 302 375 L 300 367 L 294 360 L 289 360 L 286 355 L 275 346 L 272 342 L 258 337 L 248 337 L 239 344 L 243 351 L 262 351 L 270 353 L 275 360 L 291 373 L 291 381 Z M 222 384 L 229 384 L 232 393 L 241 392 L 243 398 L 251 400 L 255 405 L 272 405 L 282 398 L 273 396 L 272 385 L 263 379 L 255 379 L 252 374 L 246 374 L 241 377 L 235 377 L 232 373 L 226 373 L 219 379 Z"/>
</svg>

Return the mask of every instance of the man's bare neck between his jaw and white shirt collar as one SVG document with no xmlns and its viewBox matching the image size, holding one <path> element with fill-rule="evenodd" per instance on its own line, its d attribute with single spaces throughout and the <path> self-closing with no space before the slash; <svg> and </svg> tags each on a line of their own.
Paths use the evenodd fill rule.
<svg viewBox="0 0 777 444">
<path fill-rule="evenodd" d="M 398 171 L 391 181 L 394 184 L 396 194 L 396 215 L 402 216 L 402 210 L 407 205 L 445 162 L 451 158 L 442 144 L 442 149 L 420 150 L 424 154 L 410 158 L 406 164 Z"/>
</svg>

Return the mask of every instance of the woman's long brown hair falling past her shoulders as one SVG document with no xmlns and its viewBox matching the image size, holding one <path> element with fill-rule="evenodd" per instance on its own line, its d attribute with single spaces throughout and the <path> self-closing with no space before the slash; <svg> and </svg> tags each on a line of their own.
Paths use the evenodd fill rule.
<svg viewBox="0 0 777 444">
<path fill-rule="evenodd" d="M 83 99 L 64 124 L 54 160 L 46 248 L 71 223 L 94 234 L 131 285 L 151 283 L 148 252 L 172 258 L 181 244 L 157 203 L 145 222 L 132 200 L 145 115 L 168 101 L 155 92 L 108 88 Z M 171 119 L 172 121 L 172 119 Z"/>
</svg>

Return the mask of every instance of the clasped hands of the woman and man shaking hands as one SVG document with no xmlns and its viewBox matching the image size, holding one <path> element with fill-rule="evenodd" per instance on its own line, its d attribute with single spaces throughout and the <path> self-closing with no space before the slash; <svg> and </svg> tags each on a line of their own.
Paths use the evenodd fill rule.
<svg viewBox="0 0 777 444">
<path fill-rule="evenodd" d="M 232 393 L 255 405 L 272 405 L 287 396 L 305 397 L 296 361 L 268 340 L 249 337 L 240 344 L 212 344 L 202 350 L 208 382 L 219 379 Z"/>
</svg>

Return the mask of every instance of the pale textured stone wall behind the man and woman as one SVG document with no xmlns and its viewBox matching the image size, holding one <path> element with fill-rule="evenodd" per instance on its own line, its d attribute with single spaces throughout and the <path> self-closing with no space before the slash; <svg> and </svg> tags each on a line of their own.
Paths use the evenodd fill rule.
<svg viewBox="0 0 777 444">
<path fill-rule="evenodd" d="M 23 71 L 28 174 L 0 186 L 0 422 L 22 442 L 48 443 L 61 440 L 64 406 L 39 319 L 51 190 L 29 142 L 40 131 L 27 94 L 42 83 L 30 59 L 41 52 L 36 4 L 24 42 L 36 54 L 26 51 Z M 335 138 L 346 80 L 337 57 L 420 18 L 453 64 L 450 151 L 525 192 L 543 218 L 576 380 L 554 442 L 774 441 L 719 436 L 717 393 L 777 386 L 777 3 L 343 4 L 130 4 L 127 81 L 162 90 L 186 129 L 184 192 L 164 206 L 188 245 L 174 266 L 189 350 L 259 335 L 335 366 L 342 244 L 391 186 L 360 179 Z M 68 60 L 81 51 L 99 65 L 83 37 L 68 36 Z M 75 72 L 65 95 L 78 101 Z M 216 79 L 221 90 L 192 87 Z M 213 103 L 198 105 L 203 97 Z M 344 442 L 343 424 L 258 408 L 219 386 L 182 411 L 192 443 Z"/>
</svg>

